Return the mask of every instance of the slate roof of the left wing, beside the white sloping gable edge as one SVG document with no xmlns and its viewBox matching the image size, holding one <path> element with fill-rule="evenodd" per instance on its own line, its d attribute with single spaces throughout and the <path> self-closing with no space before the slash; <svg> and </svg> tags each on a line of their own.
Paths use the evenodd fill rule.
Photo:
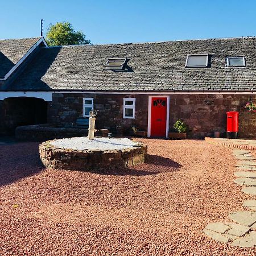
<svg viewBox="0 0 256 256">
<path fill-rule="evenodd" d="M 10 69 L 14 67 L 39 39 L 40 38 L 0 40 L 0 78 L 5 77 Z"/>
</svg>

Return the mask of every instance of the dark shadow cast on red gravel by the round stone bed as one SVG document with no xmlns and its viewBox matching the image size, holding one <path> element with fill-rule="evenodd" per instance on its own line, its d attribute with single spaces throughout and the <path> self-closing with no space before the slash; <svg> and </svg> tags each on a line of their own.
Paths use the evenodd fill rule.
<svg viewBox="0 0 256 256">
<path fill-rule="evenodd" d="M 179 163 L 159 155 L 147 155 L 147 162 L 132 168 L 116 168 L 109 170 L 92 171 L 102 175 L 120 176 L 146 176 L 160 174 L 162 172 L 174 172 L 182 167 Z"/>
</svg>

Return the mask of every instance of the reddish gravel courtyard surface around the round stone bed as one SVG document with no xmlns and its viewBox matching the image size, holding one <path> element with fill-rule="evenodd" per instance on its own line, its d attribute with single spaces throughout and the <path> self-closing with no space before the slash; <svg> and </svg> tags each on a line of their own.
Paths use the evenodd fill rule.
<svg viewBox="0 0 256 256">
<path fill-rule="evenodd" d="M 0 144 L 0 255 L 256 255 L 202 231 L 250 199 L 233 148 L 139 141 L 147 163 L 104 173 L 46 170 L 39 143 Z"/>
</svg>

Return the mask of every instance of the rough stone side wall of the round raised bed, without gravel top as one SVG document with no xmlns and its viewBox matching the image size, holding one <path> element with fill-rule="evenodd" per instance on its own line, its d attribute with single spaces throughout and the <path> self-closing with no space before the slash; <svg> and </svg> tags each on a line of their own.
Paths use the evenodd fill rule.
<svg viewBox="0 0 256 256">
<path fill-rule="evenodd" d="M 65 170 L 86 171 L 101 168 L 131 167 L 144 163 L 147 156 L 147 145 L 136 143 L 136 146 L 121 150 L 73 150 L 58 148 L 52 141 L 39 146 L 40 158 L 45 167 Z"/>
</svg>

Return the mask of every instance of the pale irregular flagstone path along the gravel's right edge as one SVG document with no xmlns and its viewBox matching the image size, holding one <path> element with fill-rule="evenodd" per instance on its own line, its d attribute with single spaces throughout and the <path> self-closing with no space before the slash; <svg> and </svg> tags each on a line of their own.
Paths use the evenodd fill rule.
<svg viewBox="0 0 256 256">
<path fill-rule="evenodd" d="M 228 243 L 232 241 L 231 245 L 233 246 L 253 247 L 256 246 L 255 157 L 247 150 L 234 150 L 233 155 L 238 160 L 236 164 L 238 171 L 234 172 L 234 176 L 237 178 L 234 179 L 234 183 L 244 186 L 242 191 L 253 196 L 254 199 L 244 201 L 245 210 L 229 213 L 233 222 L 212 222 L 205 227 L 203 232 L 218 242 Z"/>
</svg>

